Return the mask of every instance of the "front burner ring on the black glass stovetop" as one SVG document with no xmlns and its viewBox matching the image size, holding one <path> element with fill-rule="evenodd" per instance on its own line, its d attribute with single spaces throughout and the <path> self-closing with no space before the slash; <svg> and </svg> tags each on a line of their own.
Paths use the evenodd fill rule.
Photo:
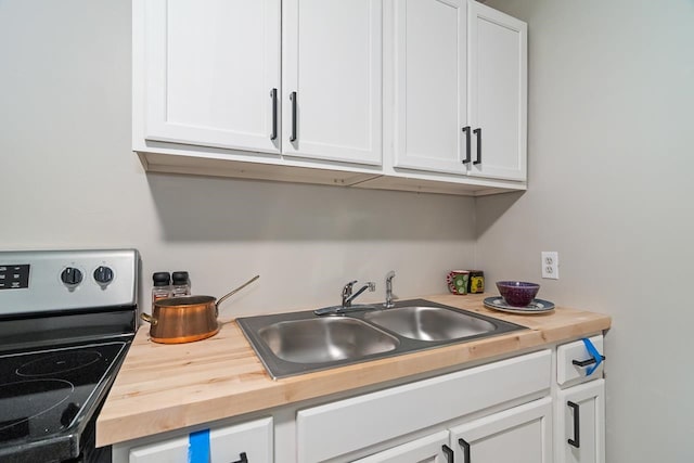
<svg viewBox="0 0 694 463">
<path fill-rule="evenodd" d="M 0 439 L 5 441 L 29 435 L 29 421 L 63 403 L 74 390 L 75 386 L 63 380 L 29 380 L 0 385 Z M 35 397 L 36 400 L 16 400 L 17 397 Z"/>
</svg>

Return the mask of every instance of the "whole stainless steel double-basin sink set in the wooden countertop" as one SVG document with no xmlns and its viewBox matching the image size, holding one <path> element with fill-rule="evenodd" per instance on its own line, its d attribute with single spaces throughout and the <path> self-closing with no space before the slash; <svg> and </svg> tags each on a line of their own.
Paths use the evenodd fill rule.
<svg viewBox="0 0 694 463">
<path fill-rule="evenodd" d="M 337 316 L 309 310 L 244 317 L 236 322 L 275 380 L 526 330 L 424 299 L 378 307 Z"/>
</svg>

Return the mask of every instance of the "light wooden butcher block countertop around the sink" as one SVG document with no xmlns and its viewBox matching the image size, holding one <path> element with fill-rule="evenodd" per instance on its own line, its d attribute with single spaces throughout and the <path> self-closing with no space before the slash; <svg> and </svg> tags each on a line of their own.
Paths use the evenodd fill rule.
<svg viewBox="0 0 694 463">
<path fill-rule="evenodd" d="M 607 330 L 611 318 L 557 307 L 512 314 L 484 307 L 490 294 L 437 295 L 427 300 L 529 327 L 486 339 L 406 353 L 273 381 L 235 322 L 210 338 L 163 345 L 138 331 L 97 421 L 97 446 L 136 439 L 409 375 L 513 355 Z"/>
</svg>

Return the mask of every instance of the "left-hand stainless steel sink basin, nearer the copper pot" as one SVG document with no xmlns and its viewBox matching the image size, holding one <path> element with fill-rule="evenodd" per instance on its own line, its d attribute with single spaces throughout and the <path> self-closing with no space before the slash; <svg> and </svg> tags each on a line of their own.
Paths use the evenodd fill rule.
<svg viewBox="0 0 694 463">
<path fill-rule="evenodd" d="M 387 352 L 398 339 L 361 320 L 323 318 L 273 323 L 258 331 L 260 338 L 282 360 L 322 363 Z"/>
</svg>

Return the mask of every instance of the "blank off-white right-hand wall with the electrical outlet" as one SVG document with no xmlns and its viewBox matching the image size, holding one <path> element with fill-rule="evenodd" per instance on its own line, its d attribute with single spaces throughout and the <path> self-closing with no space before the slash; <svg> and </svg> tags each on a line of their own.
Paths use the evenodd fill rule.
<svg viewBox="0 0 694 463">
<path fill-rule="evenodd" d="M 529 191 L 477 201 L 477 259 L 612 314 L 607 462 L 691 462 L 694 2 L 488 4 L 528 22 Z"/>
</svg>

